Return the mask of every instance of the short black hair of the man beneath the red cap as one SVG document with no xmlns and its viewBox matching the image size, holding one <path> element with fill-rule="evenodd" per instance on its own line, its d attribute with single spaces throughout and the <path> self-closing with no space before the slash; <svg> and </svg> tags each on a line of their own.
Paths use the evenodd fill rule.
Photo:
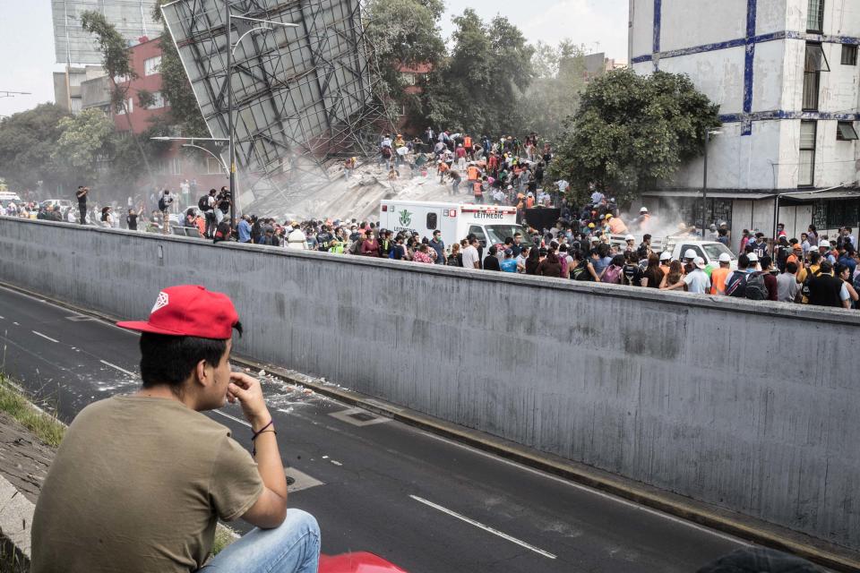
<svg viewBox="0 0 860 573">
<path fill-rule="evenodd" d="M 242 323 L 234 327 L 242 335 Z M 227 340 L 174 337 L 141 333 L 141 379 L 143 388 L 167 384 L 178 394 L 201 360 L 216 366 L 227 352 Z"/>
</svg>

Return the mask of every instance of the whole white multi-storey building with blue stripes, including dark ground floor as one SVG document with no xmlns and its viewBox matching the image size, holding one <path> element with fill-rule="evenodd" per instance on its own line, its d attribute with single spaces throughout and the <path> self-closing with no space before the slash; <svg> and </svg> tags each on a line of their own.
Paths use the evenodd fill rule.
<svg viewBox="0 0 860 573">
<path fill-rule="evenodd" d="M 709 222 L 789 236 L 860 223 L 860 4 L 837 0 L 631 0 L 637 73 L 686 73 L 718 103 L 708 147 Z M 703 161 L 646 193 L 699 220 Z"/>
</svg>

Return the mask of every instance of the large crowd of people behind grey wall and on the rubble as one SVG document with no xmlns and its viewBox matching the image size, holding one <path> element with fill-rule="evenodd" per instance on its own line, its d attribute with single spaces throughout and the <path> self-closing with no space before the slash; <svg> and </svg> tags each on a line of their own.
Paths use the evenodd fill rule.
<svg viewBox="0 0 860 573">
<path fill-rule="evenodd" d="M 0 215 L 162 233 L 171 232 L 170 227 L 195 229 L 196 235 L 216 243 L 236 241 L 699 295 L 860 308 L 860 255 L 849 228 L 840 229 L 829 240 L 813 226 L 799 238 L 788 238 L 785 227 L 779 225 L 775 241 L 744 229 L 736 259 L 723 252 L 718 259 L 704 261 L 692 249 L 678 253 L 652 249 L 649 231 L 653 221 L 647 207 L 641 208 L 638 217 L 625 220 L 615 198 L 597 188 L 590 190 L 588 201 L 575 205 L 566 198 L 566 181 L 555 182 L 557 202 L 553 201 L 543 186 L 552 150 L 537 133 L 520 141 L 510 135 L 473 138 L 467 133 L 435 133 L 428 128 L 423 138 L 411 141 L 400 134 L 393 138 L 385 134 L 379 150 L 378 163 L 388 169 L 408 166 L 414 171 L 434 162 L 440 184 L 447 179 L 451 193 L 459 192 L 465 179 L 475 203 L 515 205 L 524 235 L 516 233 L 503 244 L 483 244 L 476 235 L 468 235 L 449 245 L 439 230 L 421 236 L 354 218 L 279 222 L 246 214 L 231 221 L 226 187 L 211 189 L 198 199 L 196 207 L 179 213 L 177 196 L 167 189 L 153 192 L 148 201 L 138 198 L 136 207 L 129 198 L 125 213 L 111 206 L 88 209 L 89 189 L 80 186 L 75 192 L 77 210 L 62 212 L 59 205 L 49 202 L 10 202 L 0 205 Z M 348 158 L 346 176 L 356 168 L 356 158 Z M 187 204 L 188 191 L 184 188 L 179 195 Z M 557 220 L 546 226 L 529 225 L 525 215 L 529 210 L 553 203 L 558 208 Z M 632 233 L 641 238 L 637 240 Z M 726 223 L 715 223 L 702 230 L 680 227 L 675 235 L 728 247 L 730 233 Z M 624 236 L 624 244 L 617 240 L 620 236 Z"/>
</svg>

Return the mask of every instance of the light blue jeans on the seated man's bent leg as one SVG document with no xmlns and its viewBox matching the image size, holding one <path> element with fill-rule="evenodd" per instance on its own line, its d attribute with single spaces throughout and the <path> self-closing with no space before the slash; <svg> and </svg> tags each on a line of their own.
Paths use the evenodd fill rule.
<svg viewBox="0 0 860 573">
<path fill-rule="evenodd" d="M 320 526 L 301 509 L 287 509 L 274 529 L 254 528 L 220 552 L 201 573 L 316 573 L 320 562 Z"/>
</svg>

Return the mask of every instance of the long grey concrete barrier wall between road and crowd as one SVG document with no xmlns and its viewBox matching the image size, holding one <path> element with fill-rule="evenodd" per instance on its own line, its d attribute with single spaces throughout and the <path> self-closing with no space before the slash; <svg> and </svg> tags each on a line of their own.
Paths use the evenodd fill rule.
<svg viewBox="0 0 860 573">
<path fill-rule="evenodd" d="M 0 218 L 0 277 L 144 318 L 228 293 L 237 348 L 860 549 L 860 317 Z"/>
</svg>

